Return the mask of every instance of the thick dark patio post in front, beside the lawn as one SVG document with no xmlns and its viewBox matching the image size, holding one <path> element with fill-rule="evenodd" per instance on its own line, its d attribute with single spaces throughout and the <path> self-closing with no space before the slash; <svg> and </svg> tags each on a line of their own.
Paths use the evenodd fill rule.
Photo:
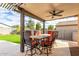
<svg viewBox="0 0 79 59">
<path fill-rule="evenodd" d="M 20 15 L 20 51 L 24 52 L 24 13 L 23 10 L 20 9 L 21 15 Z"/>
</svg>

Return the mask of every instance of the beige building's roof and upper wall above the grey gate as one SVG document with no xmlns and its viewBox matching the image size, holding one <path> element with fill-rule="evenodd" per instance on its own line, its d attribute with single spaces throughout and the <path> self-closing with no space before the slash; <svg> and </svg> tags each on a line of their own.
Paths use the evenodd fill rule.
<svg viewBox="0 0 79 59">
<path fill-rule="evenodd" d="M 65 30 L 78 30 L 78 22 L 76 21 L 65 21 L 57 24 L 56 29 L 65 29 Z"/>
</svg>

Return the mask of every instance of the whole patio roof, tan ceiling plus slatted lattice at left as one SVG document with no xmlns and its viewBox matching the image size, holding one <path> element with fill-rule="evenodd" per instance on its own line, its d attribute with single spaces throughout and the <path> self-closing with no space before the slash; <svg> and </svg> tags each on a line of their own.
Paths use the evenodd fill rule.
<svg viewBox="0 0 79 59">
<path fill-rule="evenodd" d="M 41 21 L 56 20 L 60 18 L 77 16 L 79 14 L 78 3 L 1 3 L 1 7 L 18 11 L 18 7 L 25 11 L 27 16 L 33 17 Z M 59 9 L 64 12 L 62 16 L 50 16 L 49 11 Z M 47 17 L 50 16 L 50 17 Z"/>
</svg>

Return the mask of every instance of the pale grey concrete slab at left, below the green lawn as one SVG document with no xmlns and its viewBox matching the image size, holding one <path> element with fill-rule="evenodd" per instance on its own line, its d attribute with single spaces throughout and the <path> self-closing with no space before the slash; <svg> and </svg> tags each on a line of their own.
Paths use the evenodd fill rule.
<svg viewBox="0 0 79 59">
<path fill-rule="evenodd" d="M 20 45 L 0 40 L 0 56 L 17 56 Z"/>
</svg>

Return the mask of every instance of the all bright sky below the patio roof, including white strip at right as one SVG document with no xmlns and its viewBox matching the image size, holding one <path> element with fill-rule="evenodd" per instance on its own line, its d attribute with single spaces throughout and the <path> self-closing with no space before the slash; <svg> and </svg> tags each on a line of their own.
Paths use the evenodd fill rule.
<svg viewBox="0 0 79 59">
<path fill-rule="evenodd" d="M 35 23 L 40 22 L 36 19 L 31 18 Z M 59 22 L 63 22 L 63 21 L 74 21 L 77 18 L 75 17 L 71 17 L 71 18 L 65 18 L 65 19 L 58 19 L 58 20 L 54 20 L 54 21 L 47 21 L 46 22 L 46 26 L 48 27 L 48 25 L 56 25 Z M 25 21 L 27 22 L 29 20 L 29 17 L 26 16 L 25 17 Z M 20 24 L 20 14 L 12 11 L 12 10 L 8 10 L 8 9 L 4 9 L 0 7 L 0 23 L 4 23 L 7 24 L 9 26 L 13 26 L 13 25 L 19 25 Z"/>
</svg>

